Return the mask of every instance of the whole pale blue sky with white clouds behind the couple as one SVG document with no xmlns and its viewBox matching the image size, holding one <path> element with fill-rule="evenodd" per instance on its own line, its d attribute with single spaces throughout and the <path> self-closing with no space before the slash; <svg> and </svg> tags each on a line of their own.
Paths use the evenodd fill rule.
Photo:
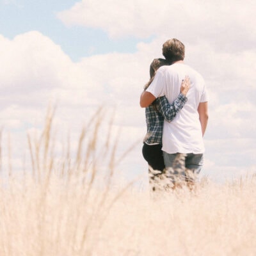
<svg viewBox="0 0 256 256">
<path fill-rule="evenodd" d="M 26 134 L 40 130 L 53 102 L 71 148 L 104 106 L 99 141 L 115 115 L 116 154 L 134 145 L 117 168 L 127 179 L 147 173 L 140 94 L 163 43 L 178 38 L 209 91 L 201 174 L 220 182 L 255 172 L 255 8 L 253 0 L 0 0 L 3 163 L 10 141 L 13 168 L 21 168 Z"/>
</svg>

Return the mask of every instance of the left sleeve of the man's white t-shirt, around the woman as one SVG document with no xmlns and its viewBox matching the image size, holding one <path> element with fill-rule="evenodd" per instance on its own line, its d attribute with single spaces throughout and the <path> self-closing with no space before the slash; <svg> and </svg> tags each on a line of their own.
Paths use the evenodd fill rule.
<svg viewBox="0 0 256 256">
<path fill-rule="evenodd" d="M 163 70 L 159 68 L 156 72 L 156 76 L 154 77 L 154 80 L 148 86 L 146 92 L 152 93 L 156 98 L 164 96 L 164 84 L 166 83 L 166 80 L 164 79 Z"/>
</svg>

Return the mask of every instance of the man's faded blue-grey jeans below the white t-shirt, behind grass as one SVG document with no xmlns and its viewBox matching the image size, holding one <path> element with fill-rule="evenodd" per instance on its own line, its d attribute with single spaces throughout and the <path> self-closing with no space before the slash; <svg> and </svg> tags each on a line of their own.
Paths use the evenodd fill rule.
<svg viewBox="0 0 256 256">
<path fill-rule="evenodd" d="M 204 163 L 203 154 L 168 154 L 163 152 L 164 164 L 173 184 L 176 182 L 194 183 Z"/>
</svg>

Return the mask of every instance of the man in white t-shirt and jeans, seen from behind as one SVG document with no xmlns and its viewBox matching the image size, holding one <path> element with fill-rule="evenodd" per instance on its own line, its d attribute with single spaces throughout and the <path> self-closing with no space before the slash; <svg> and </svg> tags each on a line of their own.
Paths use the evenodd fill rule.
<svg viewBox="0 0 256 256">
<path fill-rule="evenodd" d="M 205 83 L 196 70 L 184 63 L 185 47 L 179 40 L 166 41 L 163 55 L 173 64 L 157 70 L 154 80 L 141 94 L 140 106 L 146 108 L 163 95 L 172 103 L 180 93 L 182 79 L 189 77 L 188 101 L 172 122 L 164 121 L 162 150 L 174 186 L 179 185 L 180 180 L 193 184 L 202 168 L 205 151 L 203 136 L 208 120 Z"/>
</svg>

